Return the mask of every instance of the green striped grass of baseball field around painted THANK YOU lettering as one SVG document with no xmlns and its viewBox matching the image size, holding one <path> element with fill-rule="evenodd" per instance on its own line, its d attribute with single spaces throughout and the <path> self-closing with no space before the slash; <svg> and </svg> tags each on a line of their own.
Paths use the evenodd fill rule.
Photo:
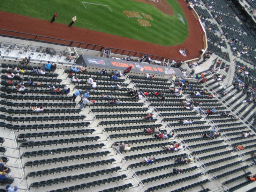
<svg viewBox="0 0 256 192">
<path fill-rule="evenodd" d="M 188 37 L 186 18 L 176 0 L 166 1 L 173 8 L 173 16 L 162 13 L 153 5 L 131 0 L 1 0 L 0 10 L 48 21 L 58 12 L 55 22 L 67 25 L 76 15 L 77 20 L 73 25 L 76 27 L 164 46 L 181 44 Z M 153 20 L 128 18 L 122 11 L 145 13 Z M 178 14 L 185 24 L 180 21 Z M 136 19 L 147 20 L 151 27 L 141 26 Z"/>
</svg>

